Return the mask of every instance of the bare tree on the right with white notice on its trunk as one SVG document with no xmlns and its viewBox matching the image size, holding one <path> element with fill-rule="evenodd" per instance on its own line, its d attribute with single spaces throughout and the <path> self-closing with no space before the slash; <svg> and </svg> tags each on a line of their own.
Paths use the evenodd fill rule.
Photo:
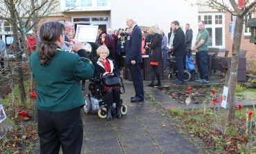
<svg viewBox="0 0 256 154">
<path fill-rule="evenodd" d="M 209 6 L 212 9 L 219 11 L 228 11 L 231 15 L 236 16 L 235 22 L 235 37 L 232 43 L 232 60 L 230 66 L 230 77 L 228 79 L 228 119 L 232 120 L 235 118 L 235 88 L 237 85 L 237 68 L 239 51 L 241 45 L 241 32 L 243 30 L 244 17 L 249 11 L 255 10 L 256 0 L 244 0 L 237 2 L 235 0 L 229 0 L 230 5 L 224 3 L 223 0 L 208 0 L 205 2 L 205 6 Z M 239 6 L 239 7 L 238 7 Z"/>
</svg>

